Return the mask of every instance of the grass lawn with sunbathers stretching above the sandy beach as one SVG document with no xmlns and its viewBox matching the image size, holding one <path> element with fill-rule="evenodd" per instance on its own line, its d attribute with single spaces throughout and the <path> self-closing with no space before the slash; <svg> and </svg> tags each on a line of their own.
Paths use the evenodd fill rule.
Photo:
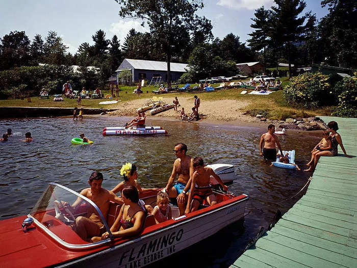
<svg viewBox="0 0 357 268">
<path fill-rule="evenodd" d="M 282 81 L 283 87 L 289 83 L 289 78 L 284 77 L 280 79 Z M 213 84 L 213 87 L 219 86 L 220 83 Z M 198 84 L 191 84 L 191 87 L 197 86 Z M 180 84 L 179 87 L 183 87 L 184 84 Z M 136 86 L 125 86 L 120 87 L 119 97 L 114 99 L 82 99 L 82 104 L 79 105 L 85 108 L 113 108 L 117 107 L 118 104 L 132 101 L 138 99 L 137 94 L 132 92 Z M 145 86 L 142 87 L 141 98 L 149 99 L 152 98 L 155 94 L 152 93 L 153 90 L 157 90 L 158 87 L 154 86 Z M 291 107 L 286 103 L 283 90 L 278 90 L 269 95 L 251 95 L 251 94 L 240 94 L 243 89 L 226 89 L 226 90 L 217 90 L 213 92 L 177 92 L 170 94 L 160 94 L 156 96 L 168 96 L 171 95 L 172 98 L 177 95 L 180 97 L 189 97 L 192 98 L 194 94 L 199 94 L 201 101 L 217 101 L 217 100 L 241 100 L 241 101 L 250 101 L 251 104 L 245 108 L 245 111 L 249 112 L 251 115 L 255 116 L 257 114 L 262 114 L 267 118 L 275 120 L 283 120 L 286 118 L 294 117 L 309 117 L 315 115 L 329 115 L 331 107 L 321 107 L 318 110 L 306 110 L 299 109 L 296 107 Z M 148 93 L 147 93 L 148 92 Z M 110 94 L 109 90 L 102 91 L 104 95 Z M 115 105 L 100 105 L 99 102 L 110 101 L 110 100 L 121 100 L 121 102 Z M 64 99 L 63 102 L 54 102 L 53 96 L 50 96 L 49 99 L 39 99 L 39 97 L 31 97 L 31 102 L 28 102 L 28 99 L 24 100 L 0 100 L 0 106 L 20 106 L 20 107 L 78 107 L 77 100 L 75 99 Z"/>
</svg>

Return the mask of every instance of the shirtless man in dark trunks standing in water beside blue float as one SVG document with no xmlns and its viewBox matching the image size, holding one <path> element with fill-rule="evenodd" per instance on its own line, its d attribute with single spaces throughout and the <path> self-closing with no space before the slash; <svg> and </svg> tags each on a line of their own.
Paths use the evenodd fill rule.
<svg viewBox="0 0 357 268">
<path fill-rule="evenodd" d="M 262 135 L 259 144 L 260 155 L 263 156 L 264 159 L 271 160 L 271 161 L 275 161 L 276 159 L 275 143 L 277 145 L 277 148 L 279 148 L 281 155 L 283 155 L 283 150 L 280 147 L 279 140 L 277 136 L 274 134 L 274 132 L 275 132 L 275 126 L 273 124 L 270 124 L 268 126 L 268 132 Z"/>
</svg>

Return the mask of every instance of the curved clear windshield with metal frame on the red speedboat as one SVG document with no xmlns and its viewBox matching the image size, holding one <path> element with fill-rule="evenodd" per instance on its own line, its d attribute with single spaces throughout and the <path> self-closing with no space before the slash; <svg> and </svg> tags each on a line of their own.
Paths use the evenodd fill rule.
<svg viewBox="0 0 357 268">
<path fill-rule="evenodd" d="M 29 216 L 38 227 L 68 248 L 87 248 L 106 242 L 104 240 L 92 243 L 89 239 L 81 238 L 79 234 L 83 232 L 75 223 L 79 216 L 97 222 L 98 226 L 103 226 L 103 232 L 107 231 L 108 225 L 93 202 L 62 185 L 51 183 Z"/>
</svg>

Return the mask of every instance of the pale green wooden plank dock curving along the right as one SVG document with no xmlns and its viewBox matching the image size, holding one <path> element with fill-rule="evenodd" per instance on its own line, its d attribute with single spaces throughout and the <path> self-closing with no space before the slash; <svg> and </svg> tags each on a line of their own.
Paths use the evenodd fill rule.
<svg viewBox="0 0 357 268">
<path fill-rule="evenodd" d="M 321 157 L 307 193 L 231 267 L 357 267 L 357 118 L 322 119 L 354 157 Z"/>
</svg>

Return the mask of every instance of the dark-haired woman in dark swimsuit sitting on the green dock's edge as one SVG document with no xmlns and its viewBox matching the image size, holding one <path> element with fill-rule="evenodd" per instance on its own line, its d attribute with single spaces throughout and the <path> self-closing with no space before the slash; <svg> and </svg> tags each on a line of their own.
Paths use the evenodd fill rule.
<svg viewBox="0 0 357 268">
<path fill-rule="evenodd" d="M 331 149 L 330 150 L 325 150 L 318 152 L 315 154 L 315 159 L 314 162 L 310 165 L 309 169 L 305 169 L 304 171 L 309 171 L 309 172 L 314 172 L 317 163 L 319 162 L 319 159 L 321 156 L 337 156 L 338 150 L 337 147 L 340 145 L 343 153 L 345 154 L 346 157 L 352 157 L 350 155 L 347 155 L 345 148 L 343 147 L 342 143 L 342 138 L 340 134 L 337 133 L 337 130 L 339 129 L 337 122 L 335 121 L 330 121 L 327 124 L 327 130 L 331 133 Z"/>
</svg>

